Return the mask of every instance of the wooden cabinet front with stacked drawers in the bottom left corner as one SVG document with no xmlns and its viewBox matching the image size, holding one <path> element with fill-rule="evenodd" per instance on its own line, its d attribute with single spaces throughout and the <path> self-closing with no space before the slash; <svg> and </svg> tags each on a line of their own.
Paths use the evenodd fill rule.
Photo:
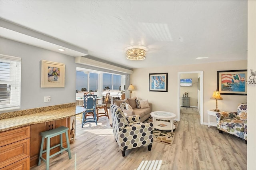
<svg viewBox="0 0 256 170">
<path fill-rule="evenodd" d="M 30 168 L 30 126 L 0 133 L 0 169 Z"/>
</svg>

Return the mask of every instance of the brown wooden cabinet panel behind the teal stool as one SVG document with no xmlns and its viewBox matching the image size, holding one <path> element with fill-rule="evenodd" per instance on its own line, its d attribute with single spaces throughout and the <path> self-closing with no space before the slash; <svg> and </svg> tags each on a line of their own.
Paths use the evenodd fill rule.
<svg viewBox="0 0 256 170">
<path fill-rule="evenodd" d="M 42 140 L 42 136 L 40 135 L 40 132 L 52 130 L 54 128 L 61 127 L 61 126 L 68 127 L 70 129 L 70 118 L 60 119 L 57 121 L 49 121 L 45 123 L 38 123 L 30 126 L 31 126 L 31 140 L 30 140 L 30 143 L 31 143 L 30 167 L 31 167 L 38 164 L 38 155 L 39 155 L 41 140 Z M 68 136 L 70 139 L 70 130 L 68 130 Z M 63 146 L 67 147 L 65 134 L 62 134 L 62 139 L 63 139 Z M 50 140 L 50 147 L 55 146 L 56 144 L 59 144 L 59 143 L 60 143 L 60 136 L 55 136 Z M 44 141 L 43 149 L 44 150 L 46 149 L 46 140 Z M 54 154 L 59 150 L 60 150 L 59 147 L 54 148 L 50 150 L 50 154 Z M 45 158 L 45 154 L 46 153 L 42 155 L 44 158 Z"/>
</svg>

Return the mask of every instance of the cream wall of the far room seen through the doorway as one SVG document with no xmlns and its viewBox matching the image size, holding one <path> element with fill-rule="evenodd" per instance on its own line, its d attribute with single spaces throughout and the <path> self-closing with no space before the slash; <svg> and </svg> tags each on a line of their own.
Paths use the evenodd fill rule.
<svg viewBox="0 0 256 170">
<path fill-rule="evenodd" d="M 181 74 L 180 79 L 192 79 L 192 86 L 189 87 L 180 87 L 180 97 L 183 97 L 184 92 L 188 92 L 188 97 L 190 97 L 190 107 L 198 106 L 198 74 L 197 73 L 188 73 Z M 180 101 L 181 103 L 181 101 Z"/>
</svg>

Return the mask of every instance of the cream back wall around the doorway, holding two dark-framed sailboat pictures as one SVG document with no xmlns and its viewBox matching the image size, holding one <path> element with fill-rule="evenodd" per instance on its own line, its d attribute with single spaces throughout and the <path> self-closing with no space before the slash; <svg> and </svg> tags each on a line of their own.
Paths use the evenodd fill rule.
<svg viewBox="0 0 256 170">
<path fill-rule="evenodd" d="M 133 96 L 148 99 L 152 103 L 152 111 L 178 111 L 178 72 L 204 71 L 204 120 L 207 123 L 207 110 L 215 108 L 215 100 L 210 99 L 217 87 L 217 71 L 247 69 L 247 61 L 232 61 L 222 63 L 205 63 L 195 65 L 182 65 L 172 67 L 155 67 L 134 69 L 130 83 L 134 85 Z M 168 73 L 168 92 L 155 92 L 148 90 L 149 73 Z M 223 100 L 218 101 L 218 108 L 224 111 L 236 111 L 239 103 L 247 101 L 247 96 L 222 95 Z"/>
</svg>

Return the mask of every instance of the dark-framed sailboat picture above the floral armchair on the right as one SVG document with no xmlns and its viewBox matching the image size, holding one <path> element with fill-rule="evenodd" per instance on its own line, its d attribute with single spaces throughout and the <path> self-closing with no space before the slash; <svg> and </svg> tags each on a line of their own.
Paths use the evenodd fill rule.
<svg viewBox="0 0 256 170">
<path fill-rule="evenodd" d="M 222 95 L 247 95 L 247 70 L 217 71 L 217 91 Z"/>
</svg>

